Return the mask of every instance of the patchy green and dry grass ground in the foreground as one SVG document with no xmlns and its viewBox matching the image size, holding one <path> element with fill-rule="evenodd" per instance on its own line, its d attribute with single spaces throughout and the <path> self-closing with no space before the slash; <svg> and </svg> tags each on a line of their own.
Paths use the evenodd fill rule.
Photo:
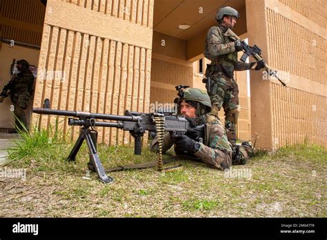
<svg viewBox="0 0 327 240">
<path fill-rule="evenodd" d="M 232 166 L 238 173 L 250 170 L 250 177 L 227 177 L 181 159 L 183 168 L 175 172 L 111 172 L 115 182 L 104 184 L 88 172 L 85 143 L 76 161 L 68 162 L 73 143 L 62 134 L 34 129 L 21 137 L 6 166 L 26 168 L 26 181 L 0 179 L 0 217 L 327 216 L 327 152 L 319 146 L 260 151 L 245 166 Z M 105 168 L 157 159 L 146 147 L 139 156 L 129 146 L 99 145 L 98 150 Z"/>
</svg>

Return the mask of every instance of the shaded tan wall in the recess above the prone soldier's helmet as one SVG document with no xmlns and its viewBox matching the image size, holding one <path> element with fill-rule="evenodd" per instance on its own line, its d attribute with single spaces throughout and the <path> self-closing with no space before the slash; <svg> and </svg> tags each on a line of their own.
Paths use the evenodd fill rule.
<svg viewBox="0 0 327 240">
<path fill-rule="evenodd" d="M 172 103 L 177 97 L 175 86 L 193 86 L 186 48 L 184 40 L 153 32 L 150 103 Z"/>
</svg>

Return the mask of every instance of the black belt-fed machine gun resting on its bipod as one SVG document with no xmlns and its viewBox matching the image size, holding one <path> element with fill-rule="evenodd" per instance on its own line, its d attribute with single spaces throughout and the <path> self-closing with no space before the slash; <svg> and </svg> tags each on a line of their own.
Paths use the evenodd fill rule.
<svg viewBox="0 0 327 240">
<path fill-rule="evenodd" d="M 49 106 L 48 99 L 45 100 L 45 105 Z M 90 162 L 88 163 L 88 169 L 97 172 L 99 179 L 103 183 L 112 183 L 114 179 L 106 175 L 106 172 L 99 159 L 97 153 L 97 131 L 96 126 L 108 127 L 108 128 L 120 128 L 125 131 L 129 131 L 132 137 L 135 138 L 134 154 L 141 154 L 141 137 L 146 131 L 160 132 L 161 134 L 166 130 L 173 134 L 203 134 L 198 138 L 199 141 L 204 139 L 204 126 L 199 126 L 195 129 L 190 126 L 190 123 L 184 117 L 172 115 L 172 112 L 163 110 L 157 110 L 152 113 L 132 112 L 125 111 L 124 116 L 112 115 L 112 114 L 100 114 L 91 112 L 77 112 L 66 110 L 52 110 L 50 108 L 33 108 L 33 112 L 38 114 L 52 114 L 60 116 L 68 116 L 75 118 L 68 118 L 68 125 L 81 126 L 81 132 L 77 139 L 75 146 L 72 148 L 68 161 L 75 161 L 77 152 L 81 145 L 86 140 L 88 149 L 90 152 Z M 164 120 L 164 129 L 156 126 L 157 119 Z M 95 119 L 117 121 L 117 123 L 108 121 L 96 121 Z"/>
</svg>

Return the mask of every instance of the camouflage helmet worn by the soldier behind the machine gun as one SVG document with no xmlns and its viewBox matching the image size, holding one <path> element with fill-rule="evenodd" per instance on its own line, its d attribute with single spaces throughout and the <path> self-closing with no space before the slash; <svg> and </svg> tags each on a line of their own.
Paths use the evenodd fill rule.
<svg viewBox="0 0 327 240">
<path fill-rule="evenodd" d="M 184 88 L 181 92 L 179 92 L 179 103 L 181 100 L 200 103 L 201 106 L 197 108 L 197 114 L 199 115 L 211 111 L 211 101 L 206 90 L 201 90 L 199 88 Z"/>
</svg>

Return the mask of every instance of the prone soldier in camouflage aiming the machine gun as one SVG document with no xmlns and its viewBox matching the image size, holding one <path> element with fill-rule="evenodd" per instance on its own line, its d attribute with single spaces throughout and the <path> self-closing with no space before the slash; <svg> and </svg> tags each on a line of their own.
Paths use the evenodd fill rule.
<svg viewBox="0 0 327 240">
<path fill-rule="evenodd" d="M 162 152 L 174 145 L 177 155 L 190 155 L 201 159 L 212 168 L 224 170 L 232 166 L 232 148 L 226 136 L 226 130 L 217 117 L 208 114 L 211 110 L 210 97 L 205 90 L 184 88 L 179 92 L 178 112 L 184 115 L 193 127 L 204 125 L 204 139 L 197 133 L 164 135 Z M 197 141 L 196 141 L 196 140 Z M 150 143 L 150 149 L 159 151 L 158 138 Z"/>
</svg>

